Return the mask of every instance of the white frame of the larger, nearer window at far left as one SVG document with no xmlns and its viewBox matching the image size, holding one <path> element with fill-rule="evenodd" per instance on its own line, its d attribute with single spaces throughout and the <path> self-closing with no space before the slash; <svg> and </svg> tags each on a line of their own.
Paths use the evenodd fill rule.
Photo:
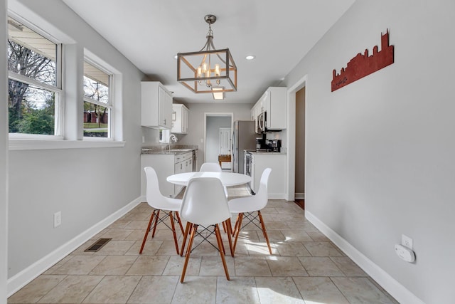
<svg viewBox="0 0 455 304">
<path fill-rule="evenodd" d="M 33 85 L 43 90 L 49 90 L 55 93 L 55 109 L 54 109 L 54 134 L 53 135 L 43 135 L 43 134 L 31 134 L 31 133 L 8 133 L 9 139 L 11 140 L 63 140 L 63 115 L 64 115 L 64 90 L 63 90 L 63 43 L 55 39 L 50 34 L 41 30 L 38 26 L 33 23 L 23 19 L 21 16 L 8 12 L 7 18 L 11 17 L 15 21 L 22 23 L 24 26 L 29 28 L 31 31 L 37 33 L 43 38 L 48 39 L 48 41 L 55 43 L 55 86 L 48 85 L 47 83 L 41 83 L 38 80 L 33 78 L 28 78 L 24 75 L 18 74 L 11 70 L 8 70 L 8 80 L 14 80 L 21 83 L 26 83 L 28 85 Z M 8 39 L 9 39 L 9 33 Z"/>
</svg>

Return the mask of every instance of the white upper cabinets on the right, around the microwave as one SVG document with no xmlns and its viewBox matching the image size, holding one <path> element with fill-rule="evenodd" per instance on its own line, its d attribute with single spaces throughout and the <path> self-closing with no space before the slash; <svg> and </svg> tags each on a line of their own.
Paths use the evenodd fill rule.
<svg viewBox="0 0 455 304">
<path fill-rule="evenodd" d="M 267 112 L 267 129 L 286 129 L 287 88 L 269 87 L 253 108 L 259 113 Z"/>
</svg>

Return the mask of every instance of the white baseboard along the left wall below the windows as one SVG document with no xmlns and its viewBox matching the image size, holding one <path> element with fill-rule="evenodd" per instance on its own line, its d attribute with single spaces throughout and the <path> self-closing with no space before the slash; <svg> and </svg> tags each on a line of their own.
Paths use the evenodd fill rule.
<svg viewBox="0 0 455 304">
<path fill-rule="evenodd" d="M 142 196 L 134 199 L 134 201 L 131 201 L 126 206 L 107 216 L 107 218 L 82 232 L 82 234 L 75 236 L 74 239 L 68 241 L 67 243 L 64 243 L 59 248 L 55 249 L 55 251 L 49 253 L 47 256 L 44 256 L 40 260 L 33 263 L 31 266 L 28 266 L 20 273 L 17 273 L 15 276 L 9 278 L 6 283 L 7 296 L 9 297 L 16 293 L 16 291 L 30 283 L 34 278 L 41 275 L 41 273 L 46 271 L 62 258 L 75 251 L 76 248 L 81 246 L 92 236 L 95 236 L 95 234 L 102 231 L 102 229 L 105 229 L 107 226 L 114 223 L 114 221 L 117 221 L 117 219 L 124 216 L 124 214 L 127 214 L 128 211 L 132 210 L 135 206 L 141 203 L 141 201 L 144 201 Z"/>
</svg>

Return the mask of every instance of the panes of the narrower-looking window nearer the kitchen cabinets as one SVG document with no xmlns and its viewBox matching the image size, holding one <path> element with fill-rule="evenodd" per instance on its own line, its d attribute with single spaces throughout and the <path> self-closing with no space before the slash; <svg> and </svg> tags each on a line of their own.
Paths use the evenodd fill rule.
<svg viewBox="0 0 455 304">
<path fill-rule="evenodd" d="M 111 138 L 112 75 L 84 61 L 84 137 Z"/>
</svg>

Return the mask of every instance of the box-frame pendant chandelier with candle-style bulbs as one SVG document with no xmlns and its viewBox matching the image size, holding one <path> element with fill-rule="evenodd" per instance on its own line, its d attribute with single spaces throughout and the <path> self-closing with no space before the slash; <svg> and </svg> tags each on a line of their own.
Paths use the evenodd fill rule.
<svg viewBox="0 0 455 304">
<path fill-rule="evenodd" d="M 237 66 L 229 48 L 220 50 L 213 46 L 211 24 L 216 16 L 205 15 L 208 23 L 207 42 L 198 52 L 177 54 L 177 81 L 193 93 L 213 93 L 223 99 L 225 92 L 237 91 Z"/>
</svg>

